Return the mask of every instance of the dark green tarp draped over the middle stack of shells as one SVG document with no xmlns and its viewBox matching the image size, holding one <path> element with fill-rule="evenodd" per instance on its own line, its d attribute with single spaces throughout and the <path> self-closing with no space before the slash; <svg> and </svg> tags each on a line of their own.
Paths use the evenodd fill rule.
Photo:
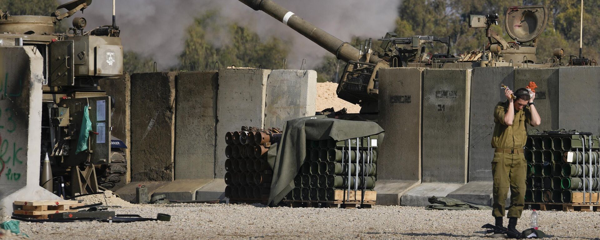
<svg viewBox="0 0 600 240">
<path fill-rule="evenodd" d="M 307 140 L 346 140 L 356 137 L 379 135 L 377 144 L 383 141 L 383 129 L 375 122 L 347 121 L 326 116 L 309 116 L 287 121 L 279 143 L 271 145 L 267 160 L 273 169 L 271 193 L 268 205 L 277 205 L 294 188 L 293 179 L 304 163 Z"/>
</svg>

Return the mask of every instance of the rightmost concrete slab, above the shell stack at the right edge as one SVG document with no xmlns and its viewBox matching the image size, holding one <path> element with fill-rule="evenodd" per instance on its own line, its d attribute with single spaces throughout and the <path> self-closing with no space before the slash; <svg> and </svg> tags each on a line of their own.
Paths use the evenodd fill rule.
<svg viewBox="0 0 600 240">
<path fill-rule="evenodd" d="M 560 67 L 559 79 L 559 127 L 600 134 L 600 67 Z"/>
</svg>

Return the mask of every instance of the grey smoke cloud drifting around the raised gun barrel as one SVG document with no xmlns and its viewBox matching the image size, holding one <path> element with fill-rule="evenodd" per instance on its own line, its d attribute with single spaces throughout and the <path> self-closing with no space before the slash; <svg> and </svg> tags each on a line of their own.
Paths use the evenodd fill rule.
<svg viewBox="0 0 600 240">
<path fill-rule="evenodd" d="M 59 0 L 64 3 L 70 0 Z M 298 16 L 329 32 L 340 40 L 353 35 L 382 37 L 394 29 L 400 0 L 275 0 Z M 262 11 L 254 11 L 237 0 L 116 0 L 116 23 L 121 29 L 125 50 L 151 56 L 165 70 L 178 64 L 183 50 L 185 29 L 206 10 L 220 11 L 224 19 L 247 25 L 263 37 L 276 36 L 292 44 L 287 68 L 300 68 L 303 58 L 307 68 L 319 64 L 331 53 L 307 40 L 283 23 Z M 64 10 L 62 10 L 64 11 Z M 86 29 L 112 22 L 112 1 L 96 0 L 84 14 Z M 215 36 L 211 41 L 227 41 Z M 223 43 L 226 44 L 226 43 Z M 283 61 L 283 59 L 282 59 Z"/>
</svg>

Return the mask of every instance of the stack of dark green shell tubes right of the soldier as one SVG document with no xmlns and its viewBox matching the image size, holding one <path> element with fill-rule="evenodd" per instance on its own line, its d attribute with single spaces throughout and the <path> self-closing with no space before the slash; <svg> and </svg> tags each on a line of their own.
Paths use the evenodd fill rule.
<svg viewBox="0 0 600 240">
<path fill-rule="evenodd" d="M 527 137 L 525 201 L 600 202 L 600 136 L 536 134 Z"/>
</svg>

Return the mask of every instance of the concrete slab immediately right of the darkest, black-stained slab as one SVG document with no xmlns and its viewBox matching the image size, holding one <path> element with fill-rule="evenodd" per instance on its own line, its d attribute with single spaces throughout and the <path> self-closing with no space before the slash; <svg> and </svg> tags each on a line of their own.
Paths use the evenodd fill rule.
<svg viewBox="0 0 600 240">
<path fill-rule="evenodd" d="M 175 179 L 212 179 L 218 72 L 180 73 L 176 88 Z"/>
</svg>

